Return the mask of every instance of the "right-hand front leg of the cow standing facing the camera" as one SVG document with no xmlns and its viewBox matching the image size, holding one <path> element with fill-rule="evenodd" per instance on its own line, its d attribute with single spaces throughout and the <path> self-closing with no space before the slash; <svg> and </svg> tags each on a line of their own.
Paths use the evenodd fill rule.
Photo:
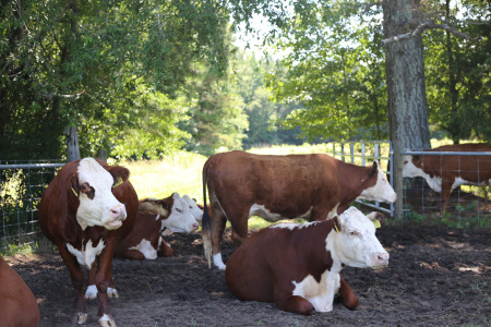
<svg viewBox="0 0 491 327">
<path fill-rule="evenodd" d="M 111 277 L 111 259 L 115 250 L 115 237 L 106 238 L 106 247 L 103 250 L 97 259 L 96 286 L 99 298 L 99 325 L 101 327 L 116 327 L 116 322 L 109 312 L 108 304 L 108 287 Z"/>
</svg>

